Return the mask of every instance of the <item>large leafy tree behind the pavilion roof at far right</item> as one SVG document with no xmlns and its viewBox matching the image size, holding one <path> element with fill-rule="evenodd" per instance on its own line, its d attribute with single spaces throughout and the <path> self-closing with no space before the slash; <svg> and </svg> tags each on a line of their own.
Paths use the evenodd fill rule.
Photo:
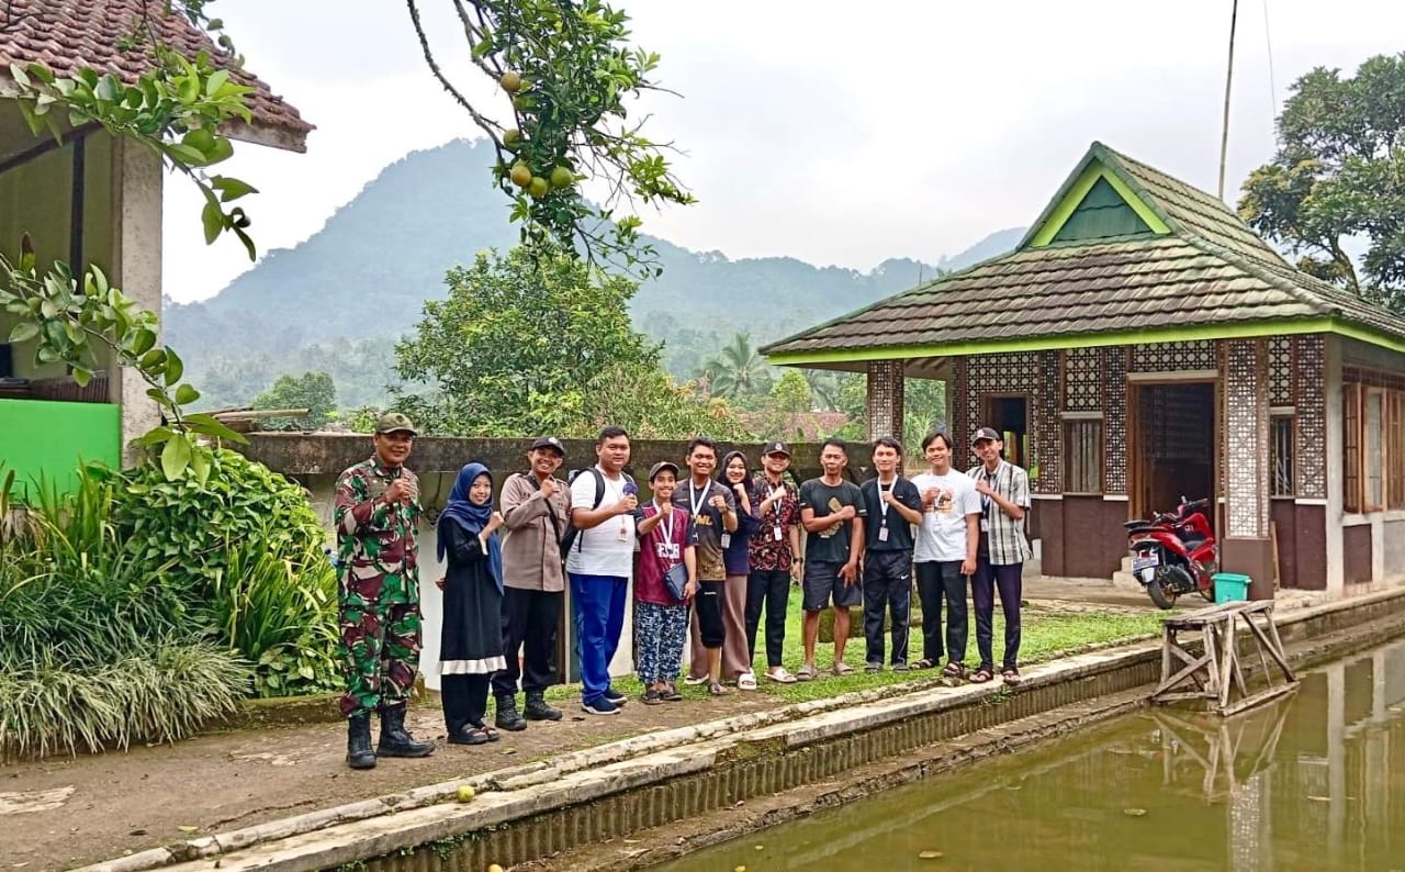
<svg viewBox="0 0 1405 872">
<path fill-rule="evenodd" d="M 1304 271 L 1405 311 L 1405 53 L 1294 82 L 1239 214 Z M 1360 270 L 1352 241 L 1366 245 Z"/>
</svg>

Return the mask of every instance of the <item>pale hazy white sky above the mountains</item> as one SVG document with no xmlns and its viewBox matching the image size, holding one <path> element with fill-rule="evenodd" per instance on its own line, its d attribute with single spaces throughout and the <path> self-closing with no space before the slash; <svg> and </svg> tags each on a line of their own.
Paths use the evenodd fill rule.
<svg viewBox="0 0 1405 872">
<path fill-rule="evenodd" d="M 461 53 L 450 4 L 422 6 L 440 53 Z M 646 108 L 655 138 L 687 152 L 676 165 L 698 197 L 645 214 L 645 231 L 695 250 L 861 270 L 936 260 L 1033 221 L 1094 139 L 1215 186 L 1231 0 L 620 6 L 636 42 L 663 55 L 659 80 L 683 94 Z M 1328 8 L 1241 1 L 1231 191 L 1272 156 L 1294 79 L 1405 51 L 1405 3 Z M 260 250 L 315 233 L 406 152 L 476 132 L 426 69 L 403 3 L 219 0 L 212 11 L 249 68 L 318 125 L 306 155 L 240 145 L 230 162 L 263 191 L 247 200 Z M 458 72 L 507 115 L 500 91 Z M 188 184 L 169 181 L 166 208 L 167 295 L 204 298 L 249 269 L 236 242 L 204 246 Z"/>
</svg>

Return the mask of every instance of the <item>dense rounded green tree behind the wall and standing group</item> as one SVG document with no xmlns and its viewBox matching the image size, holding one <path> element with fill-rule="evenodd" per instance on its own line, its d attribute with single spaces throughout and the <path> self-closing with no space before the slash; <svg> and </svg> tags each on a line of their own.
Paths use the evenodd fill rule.
<svg viewBox="0 0 1405 872">
<path fill-rule="evenodd" d="M 395 350 L 400 376 L 431 387 L 402 408 L 444 432 L 586 436 L 618 423 L 614 392 L 635 421 L 677 411 L 659 346 L 631 326 L 632 280 L 545 245 L 482 253 L 448 286 Z"/>
</svg>

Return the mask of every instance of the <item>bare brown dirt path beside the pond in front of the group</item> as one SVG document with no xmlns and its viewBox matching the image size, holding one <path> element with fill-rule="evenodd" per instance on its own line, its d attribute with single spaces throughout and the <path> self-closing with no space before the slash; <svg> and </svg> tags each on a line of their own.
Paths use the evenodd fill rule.
<svg viewBox="0 0 1405 872">
<path fill-rule="evenodd" d="M 1138 591 L 1106 581 L 1037 578 L 1026 599 L 1058 601 L 1061 609 L 1145 612 Z M 1293 592 L 1281 606 L 1319 601 Z M 1198 603 L 1198 601 L 1197 601 Z M 835 693 L 844 692 L 843 679 Z M 590 717 L 561 702 L 566 719 L 532 724 L 482 747 L 444 745 L 423 759 L 386 759 L 371 772 L 343 762 L 339 723 L 211 734 L 174 745 L 126 752 L 52 758 L 0 767 L 0 869 L 62 869 L 198 834 L 233 830 L 340 803 L 488 772 L 562 751 L 642 733 L 695 724 L 785 705 L 778 696 L 732 693 L 711 699 L 688 689 L 677 706 L 629 705 L 617 717 Z M 443 740 L 436 705 L 417 706 L 410 726 Z"/>
</svg>

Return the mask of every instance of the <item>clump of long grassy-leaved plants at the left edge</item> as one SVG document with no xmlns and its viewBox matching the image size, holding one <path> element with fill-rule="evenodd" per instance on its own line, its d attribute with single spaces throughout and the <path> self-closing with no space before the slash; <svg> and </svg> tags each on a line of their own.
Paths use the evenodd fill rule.
<svg viewBox="0 0 1405 872">
<path fill-rule="evenodd" d="M 97 468 L 74 494 L 41 487 L 0 534 L 0 757 L 170 741 L 249 692 L 239 655 L 122 551 L 115 488 Z"/>
</svg>

